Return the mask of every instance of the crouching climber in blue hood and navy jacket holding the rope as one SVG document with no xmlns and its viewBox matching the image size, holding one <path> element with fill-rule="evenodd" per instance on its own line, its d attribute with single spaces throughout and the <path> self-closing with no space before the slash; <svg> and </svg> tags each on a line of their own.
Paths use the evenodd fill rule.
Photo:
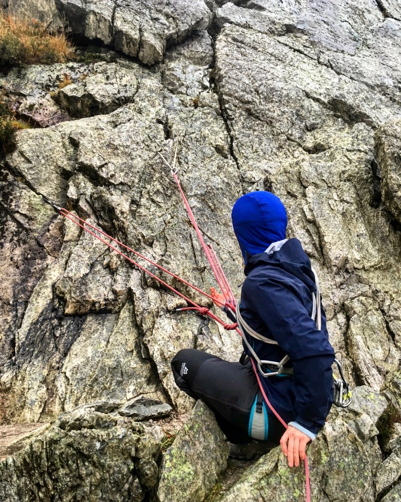
<svg viewBox="0 0 401 502">
<path fill-rule="evenodd" d="M 200 350 L 180 350 L 171 361 L 175 383 L 214 411 L 230 442 L 243 444 L 254 438 L 280 443 L 288 465 L 298 466 L 333 402 L 334 351 L 324 310 L 319 330 L 311 318 L 316 286 L 310 260 L 298 239 L 286 239 L 287 214 L 278 197 L 264 191 L 240 197 L 232 221 L 245 262 L 239 315 L 249 330 L 271 339 L 266 343 L 249 338 L 259 359 L 273 362 L 259 366 L 258 374 L 288 429 L 266 406 L 249 359 L 254 356 L 244 341 L 244 364 Z M 224 303 L 214 288 L 211 291 Z M 224 309 L 235 322 L 235 309 Z M 277 373 L 274 361 L 286 355 L 289 360 Z M 264 376 L 270 372 L 274 374 Z"/>
</svg>

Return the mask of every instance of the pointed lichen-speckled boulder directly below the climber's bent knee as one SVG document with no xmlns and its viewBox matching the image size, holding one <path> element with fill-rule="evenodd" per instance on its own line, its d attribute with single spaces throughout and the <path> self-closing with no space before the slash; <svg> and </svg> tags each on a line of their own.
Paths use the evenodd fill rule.
<svg viewBox="0 0 401 502">
<path fill-rule="evenodd" d="M 227 467 L 229 446 L 216 418 L 197 401 L 187 422 L 163 456 L 158 502 L 205 500 L 219 475 Z"/>
</svg>

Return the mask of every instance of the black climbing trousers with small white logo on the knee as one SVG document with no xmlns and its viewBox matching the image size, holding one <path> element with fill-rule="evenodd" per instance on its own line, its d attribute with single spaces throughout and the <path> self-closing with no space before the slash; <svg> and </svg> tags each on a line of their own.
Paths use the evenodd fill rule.
<svg viewBox="0 0 401 502">
<path fill-rule="evenodd" d="M 201 399 L 216 415 L 217 423 L 231 443 L 250 441 L 251 409 L 258 382 L 252 365 L 228 362 L 195 349 L 180 350 L 171 361 L 179 389 L 193 399 Z M 268 413 L 268 441 L 278 444 L 284 427 Z"/>
</svg>

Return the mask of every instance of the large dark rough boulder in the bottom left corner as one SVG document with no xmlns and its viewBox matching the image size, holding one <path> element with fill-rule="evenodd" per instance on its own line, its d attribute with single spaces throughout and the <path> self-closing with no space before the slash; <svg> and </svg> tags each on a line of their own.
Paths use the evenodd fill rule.
<svg viewBox="0 0 401 502">
<path fill-rule="evenodd" d="M 0 497 L 140 502 L 156 483 L 159 454 L 141 424 L 78 410 L 0 462 Z"/>
</svg>

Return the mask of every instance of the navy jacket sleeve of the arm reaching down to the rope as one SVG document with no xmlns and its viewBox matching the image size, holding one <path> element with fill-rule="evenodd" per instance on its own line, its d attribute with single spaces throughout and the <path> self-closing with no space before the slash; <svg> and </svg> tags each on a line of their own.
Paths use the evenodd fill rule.
<svg viewBox="0 0 401 502">
<path fill-rule="evenodd" d="M 294 421 L 314 434 L 333 402 L 334 350 L 327 331 L 318 330 L 285 278 L 249 277 L 247 305 L 262 319 L 294 368 Z"/>
</svg>

